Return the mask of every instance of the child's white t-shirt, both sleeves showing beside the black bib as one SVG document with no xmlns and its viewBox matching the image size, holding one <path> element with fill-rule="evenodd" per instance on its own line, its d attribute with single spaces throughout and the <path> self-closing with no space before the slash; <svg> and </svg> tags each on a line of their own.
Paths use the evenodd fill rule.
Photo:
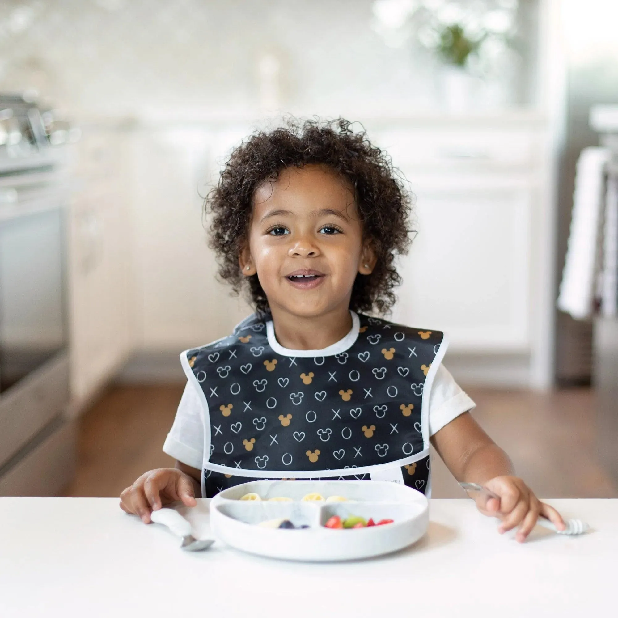
<svg viewBox="0 0 618 618">
<path fill-rule="evenodd" d="M 167 434 L 163 451 L 192 468 L 201 470 L 204 425 L 201 401 L 196 387 L 187 383 L 180 398 L 174 425 Z M 429 432 L 441 430 L 460 414 L 475 407 L 470 397 L 442 365 L 438 367 L 429 398 Z"/>
</svg>

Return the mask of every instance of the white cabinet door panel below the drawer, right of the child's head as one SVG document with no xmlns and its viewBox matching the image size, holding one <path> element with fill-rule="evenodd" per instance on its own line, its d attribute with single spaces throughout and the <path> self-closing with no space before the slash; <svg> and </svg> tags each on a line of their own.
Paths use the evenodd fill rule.
<svg viewBox="0 0 618 618">
<path fill-rule="evenodd" d="M 451 350 L 526 351 L 530 190 L 417 186 L 395 320 L 449 332 Z"/>
</svg>

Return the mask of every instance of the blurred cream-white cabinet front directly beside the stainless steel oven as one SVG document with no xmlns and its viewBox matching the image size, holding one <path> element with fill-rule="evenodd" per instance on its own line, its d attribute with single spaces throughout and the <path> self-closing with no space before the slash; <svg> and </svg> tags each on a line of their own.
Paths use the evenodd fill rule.
<svg viewBox="0 0 618 618">
<path fill-rule="evenodd" d="M 71 391 L 77 407 L 132 346 L 130 173 L 125 132 L 84 127 L 69 221 Z"/>
</svg>

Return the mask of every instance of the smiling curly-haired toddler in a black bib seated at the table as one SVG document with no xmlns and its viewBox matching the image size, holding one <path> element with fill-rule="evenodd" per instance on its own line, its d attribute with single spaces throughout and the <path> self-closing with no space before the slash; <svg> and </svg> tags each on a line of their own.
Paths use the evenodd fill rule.
<svg viewBox="0 0 618 618">
<path fill-rule="evenodd" d="M 206 200 L 219 276 L 255 313 L 180 355 L 187 386 L 163 450 L 121 507 L 150 513 L 255 479 L 372 479 L 430 495 L 430 442 L 478 507 L 523 541 L 561 516 L 514 474 L 442 366 L 447 337 L 383 317 L 410 244 L 410 196 L 342 119 L 290 123 L 234 150 Z M 445 222 L 445 225 L 447 222 Z"/>
</svg>

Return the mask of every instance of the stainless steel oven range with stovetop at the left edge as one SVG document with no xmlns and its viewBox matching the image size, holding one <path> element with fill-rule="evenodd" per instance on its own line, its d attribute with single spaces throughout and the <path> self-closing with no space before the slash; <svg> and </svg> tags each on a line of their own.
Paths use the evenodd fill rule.
<svg viewBox="0 0 618 618">
<path fill-rule="evenodd" d="M 64 418 L 69 184 L 50 126 L 27 97 L 0 95 L 0 496 L 57 494 L 74 471 Z"/>
</svg>

